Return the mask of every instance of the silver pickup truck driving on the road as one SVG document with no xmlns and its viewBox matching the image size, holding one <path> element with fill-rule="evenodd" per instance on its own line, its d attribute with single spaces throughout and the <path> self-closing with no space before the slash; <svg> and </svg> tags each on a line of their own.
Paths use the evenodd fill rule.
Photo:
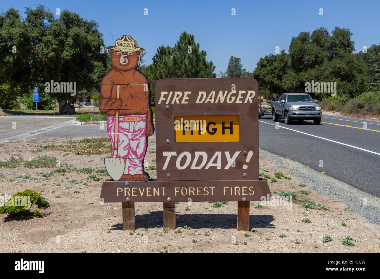
<svg viewBox="0 0 380 279">
<path fill-rule="evenodd" d="M 314 124 L 320 124 L 322 111 L 316 103 L 318 100 L 313 101 L 306 93 L 283 93 L 279 101 L 271 102 L 272 120 L 278 121 L 282 116 L 285 124 L 292 120 L 313 120 Z"/>
</svg>

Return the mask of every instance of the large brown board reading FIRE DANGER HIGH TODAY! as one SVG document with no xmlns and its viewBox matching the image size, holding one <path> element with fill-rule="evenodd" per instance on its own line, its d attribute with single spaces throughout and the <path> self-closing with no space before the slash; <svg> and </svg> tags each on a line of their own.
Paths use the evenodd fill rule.
<svg viewBox="0 0 380 279">
<path fill-rule="evenodd" d="M 257 92 L 252 78 L 158 80 L 157 180 L 258 180 Z"/>
</svg>

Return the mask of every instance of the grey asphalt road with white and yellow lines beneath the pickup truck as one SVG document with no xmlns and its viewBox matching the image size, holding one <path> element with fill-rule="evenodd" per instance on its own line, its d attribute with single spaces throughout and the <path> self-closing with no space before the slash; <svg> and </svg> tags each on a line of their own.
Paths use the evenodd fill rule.
<svg viewBox="0 0 380 279">
<path fill-rule="evenodd" d="M 328 115 L 320 125 L 278 122 L 276 129 L 271 115 L 259 119 L 261 149 L 380 197 L 380 122 L 365 121 L 365 127 L 363 120 Z"/>
</svg>

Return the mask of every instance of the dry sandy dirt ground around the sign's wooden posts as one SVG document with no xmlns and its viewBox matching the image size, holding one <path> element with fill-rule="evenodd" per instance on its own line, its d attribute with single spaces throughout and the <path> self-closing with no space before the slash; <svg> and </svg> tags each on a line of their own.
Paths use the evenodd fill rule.
<svg viewBox="0 0 380 279">
<path fill-rule="evenodd" d="M 74 140 L 74 142 L 77 140 Z M 40 138 L 0 144 L 0 160 L 13 156 L 24 159 L 46 154 L 67 162 L 73 167 L 104 169 L 100 155 L 76 155 L 61 151 L 38 151 L 38 145 L 67 144 L 66 139 Z M 151 151 L 152 153 L 149 153 Z M 155 166 L 155 142 L 149 140 L 146 166 Z M 68 154 L 68 155 L 65 155 Z M 152 168 L 153 169 L 153 168 Z M 346 211 L 344 203 L 317 195 L 317 185 L 300 187 L 302 181 L 291 177 L 287 169 L 274 169 L 269 159 L 260 156 L 260 172 L 274 178 L 283 172 L 291 179 L 268 182 L 271 191 L 292 191 L 300 200 L 314 200 L 328 206 L 329 211 L 301 207 L 297 201 L 291 209 L 285 206 L 255 208 L 260 202 L 250 203 L 250 232 L 238 232 L 237 203 L 230 202 L 213 208 L 212 203 L 195 202 L 176 205 L 177 230 L 163 229 L 162 203 L 136 203 L 136 231 L 122 230 L 120 203 L 99 202 L 102 181 L 94 181 L 89 174 L 56 173 L 43 180 L 43 173 L 54 168 L 0 169 L 0 194 L 14 194 L 32 189 L 46 197 L 51 207 L 41 210 L 43 217 L 22 218 L 0 215 L 0 246 L 7 252 L 379 252 L 380 230 L 363 217 Z M 268 172 L 264 172 L 268 170 Z M 155 170 L 148 171 L 155 177 Z M 25 180 L 17 176 L 36 177 Z M 68 181 L 78 179 L 79 184 Z M 14 180 L 14 181 L 12 181 Z M 81 181 L 82 180 L 82 181 Z M 269 179 L 270 181 L 271 179 Z M 86 185 L 87 184 L 87 185 Z M 69 186 L 67 189 L 67 186 Z M 301 190 L 310 194 L 302 195 Z M 74 193 L 74 191 L 78 191 Z M 56 197 L 60 196 L 60 198 Z M 276 195 L 274 195 L 276 196 Z M 190 210 L 185 210 L 188 207 Z M 302 222 L 310 219 L 310 223 Z M 342 223 L 347 224 L 346 227 Z M 178 228 L 182 228 L 179 229 Z M 181 232 L 182 231 L 182 232 Z M 280 237 L 280 235 L 286 237 Z M 353 246 L 340 243 L 350 235 Z M 323 236 L 332 241 L 323 243 Z"/>
</svg>

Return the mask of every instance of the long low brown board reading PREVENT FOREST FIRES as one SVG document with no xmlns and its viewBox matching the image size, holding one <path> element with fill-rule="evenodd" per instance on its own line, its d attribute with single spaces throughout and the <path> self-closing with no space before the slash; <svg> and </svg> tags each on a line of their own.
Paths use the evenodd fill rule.
<svg viewBox="0 0 380 279">
<path fill-rule="evenodd" d="M 266 180 L 209 180 L 209 181 L 157 181 L 140 183 L 107 181 L 100 196 L 104 202 L 215 202 L 246 201 L 268 198 Z M 269 193 L 270 194 L 270 193 Z"/>
</svg>

